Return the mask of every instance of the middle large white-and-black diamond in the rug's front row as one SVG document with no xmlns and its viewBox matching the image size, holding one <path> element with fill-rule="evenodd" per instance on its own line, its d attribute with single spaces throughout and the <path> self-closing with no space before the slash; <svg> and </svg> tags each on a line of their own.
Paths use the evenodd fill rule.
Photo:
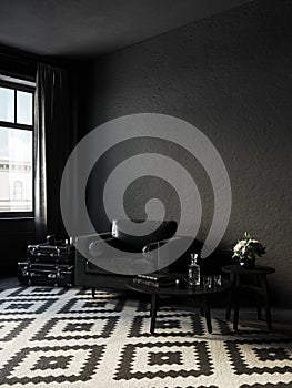
<svg viewBox="0 0 292 388">
<path fill-rule="evenodd" d="M 165 356 L 165 358 L 163 357 Z M 213 363 L 207 341 L 128 344 L 119 361 L 117 380 L 210 376 Z"/>
</svg>

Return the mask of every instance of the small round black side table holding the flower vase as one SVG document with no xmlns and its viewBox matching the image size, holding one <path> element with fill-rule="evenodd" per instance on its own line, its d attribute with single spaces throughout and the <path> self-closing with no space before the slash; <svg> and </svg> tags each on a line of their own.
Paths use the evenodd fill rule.
<svg viewBox="0 0 292 388">
<path fill-rule="evenodd" d="M 264 303 L 266 325 L 269 330 L 272 329 L 272 316 L 269 298 L 269 288 L 266 275 L 273 274 L 275 272 L 272 267 L 265 267 L 256 265 L 254 268 L 244 268 L 240 265 L 225 265 L 222 267 L 224 273 L 230 275 L 231 289 L 229 292 L 229 300 L 225 318 L 230 319 L 232 305 L 234 306 L 233 316 L 233 329 L 238 330 L 239 324 L 239 312 L 240 312 L 240 294 L 243 289 L 250 289 L 254 293 L 256 297 L 256 310 L 258 319 L 262 319 L 262 302 Z M 254 283 L 252 285 L 244 285 L 244 277 L 253 278 Z"/>
</svg>

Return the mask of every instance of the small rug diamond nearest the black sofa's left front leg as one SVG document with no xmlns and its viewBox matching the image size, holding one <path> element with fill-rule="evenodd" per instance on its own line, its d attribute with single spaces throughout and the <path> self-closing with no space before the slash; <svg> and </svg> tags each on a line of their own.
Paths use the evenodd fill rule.
<svg viewBox="0 0 292 388">
<path fill-rule="evenodd" d="M 117 297 L 95 297 L 95 298 L 71 298 L 59 313 L 120 313 L 124 307 L 125 300 Z"/>
</svg>

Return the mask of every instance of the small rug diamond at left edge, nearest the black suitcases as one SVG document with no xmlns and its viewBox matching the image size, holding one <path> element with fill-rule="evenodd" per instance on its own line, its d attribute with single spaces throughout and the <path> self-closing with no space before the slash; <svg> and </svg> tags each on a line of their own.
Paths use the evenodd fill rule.
<svg viewBox="0 0 292 388">
<path fill-rule="evenodd" d="M 41 314 L 46 312 L 52 304 L 58 300 L 52 299 L 39 299 L 39 298 L 4 298 L 0 299 L 0 315 L 8 314 Z"/>
</svg>

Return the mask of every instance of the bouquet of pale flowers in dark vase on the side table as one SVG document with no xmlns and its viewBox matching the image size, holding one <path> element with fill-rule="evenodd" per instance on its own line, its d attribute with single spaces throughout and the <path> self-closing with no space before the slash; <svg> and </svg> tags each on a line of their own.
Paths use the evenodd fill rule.
<svg viewBox="0 0 292 388">
<path fill-rule="evenodd" d="M 251 237 L 250 233 L 244 232 L 243 238 L 233 247 L 233 256 L 238 257 L 240 265 L 245 268 L 253 268 L 255 257 L 265 254 L 265 247 Z"/>
</svg>

